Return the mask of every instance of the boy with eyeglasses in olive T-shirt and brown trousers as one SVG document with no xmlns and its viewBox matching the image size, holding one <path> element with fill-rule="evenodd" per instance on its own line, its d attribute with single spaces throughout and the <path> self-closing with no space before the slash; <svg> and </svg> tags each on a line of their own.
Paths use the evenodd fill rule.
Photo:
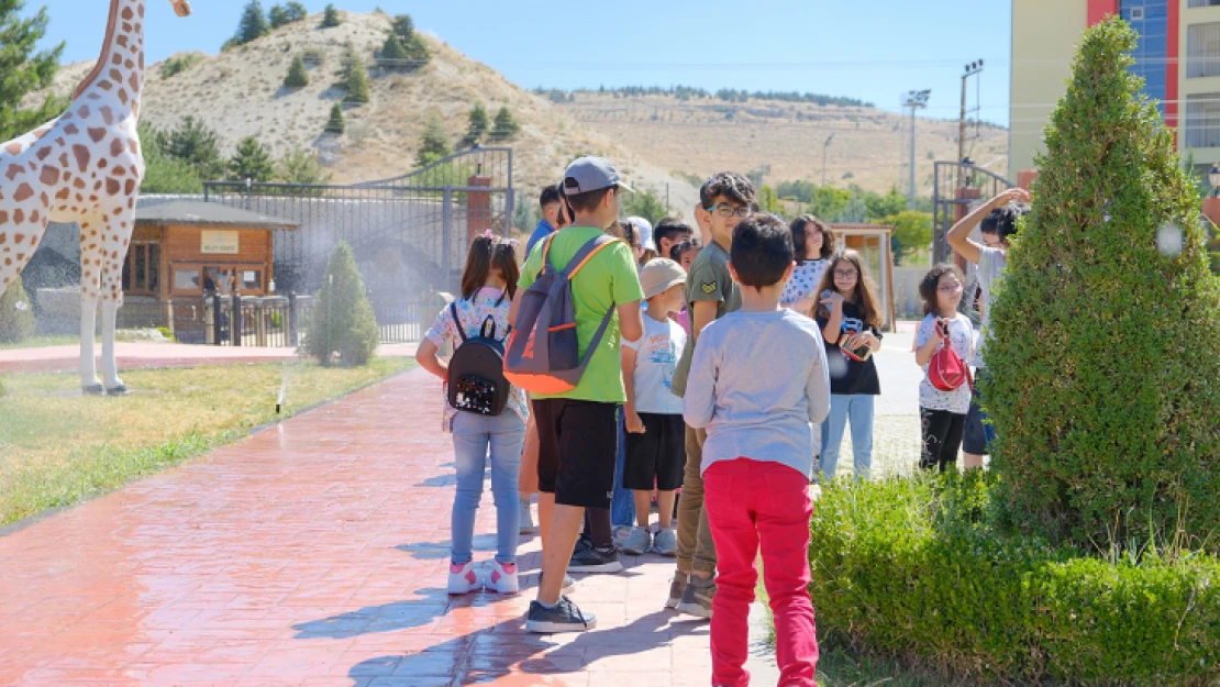
<svg viewBox="0 0 1220 687">
<path fill-rule="evenodd" d="M 699 189 L 699 225 L 709 228 L 711 240 L 699 251 L 687 275 L 683 299 L 691 314 L 691 340 L 673 371 L 671 390 L 686 395 L 691 359 L 699 333 L 712 321 L 742 306 L 742 293 L 728 270 L 728 251 L 733 229 L 754 211 L 754 184 L 744 174 L 720 172 L 712 174 Z M 678 499 L 677 571 L 670 584 L 667 608 L 697 617 L 711 617 L 716 595 L 716 545 L 708 526 L 703 505 L 703 430 L 686 428 L 686 470 L 682 476 L 682 498 Z"/>
</svg>

